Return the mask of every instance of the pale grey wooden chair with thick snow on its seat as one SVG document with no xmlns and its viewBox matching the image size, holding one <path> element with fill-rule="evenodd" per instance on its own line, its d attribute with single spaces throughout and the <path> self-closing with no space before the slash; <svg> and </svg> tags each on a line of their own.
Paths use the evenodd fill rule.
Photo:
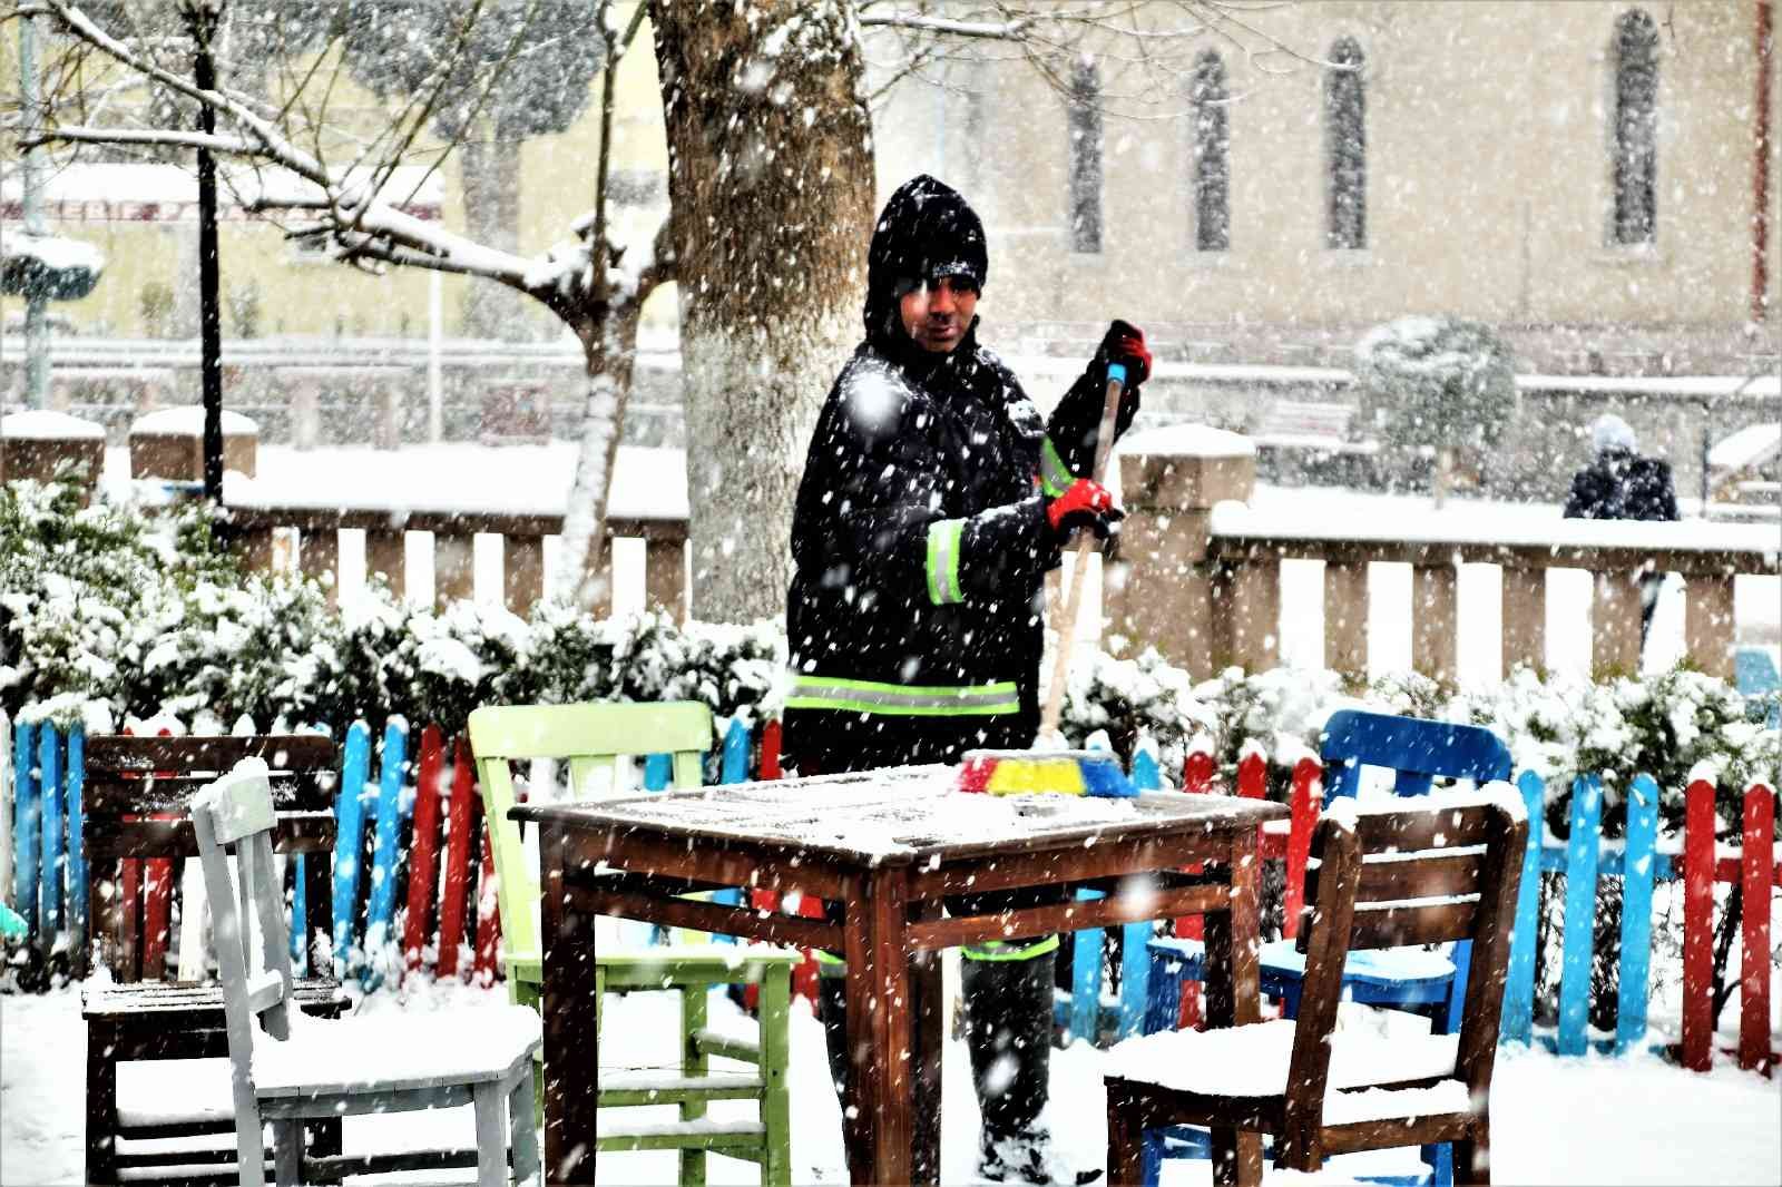
<svg viewBox="0 0 1782 1187">
<path fill-rule="evenodd" d="M 276 1182 L 296 1183 L 305 1169 L 305 1119 L 474 1105 L 478 1187 L 506 1183 L 508 1137 L 515 1182 L 535 1180 L 533 1055 L 544 1043 L 538 1014 L 501 1005 L 469 1016 L 376 1014 L 339 1021 L 301 1016 L 290 1009 L 266 763 L 237 763 L 192 800 L 191 815 L 216 921 L 237 1150 L 262 1150 L 262 1125 L 269 1121 Z M 233 850 L 235 870 L 225 850 Z M 503 1107 L 510 1135 L 501 1132 Z M 422 1164 L 449 1166 L 453 1153 L 435 1153 Z M 239 1169 L 244 1185 L 266 1183 L 260 1157 L 242 1157 Z"/>
</svg>

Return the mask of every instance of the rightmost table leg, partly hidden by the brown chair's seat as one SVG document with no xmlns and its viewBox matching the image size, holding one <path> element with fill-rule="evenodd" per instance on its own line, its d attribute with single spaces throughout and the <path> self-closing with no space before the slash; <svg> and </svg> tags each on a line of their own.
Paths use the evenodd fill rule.
<svg viewBox="0 0 1782 1187">
<path fill-rule="evenodd" d="M 1226 911 L 1206 913 L 1206 1025 L 1240 1027 L 1262 1021 L 1262 945 L 1256 829 L 1231 836 L 1226 872 L 1231 891 Z M 1215 1128 L 1214 1182 L 1260 1183 L 1262 1135 L 1255 1130 Z"/>
</svg>

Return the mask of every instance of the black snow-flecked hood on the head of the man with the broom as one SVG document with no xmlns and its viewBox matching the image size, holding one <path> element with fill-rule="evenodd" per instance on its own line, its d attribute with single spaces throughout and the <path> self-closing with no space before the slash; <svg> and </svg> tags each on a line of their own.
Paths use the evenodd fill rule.
<svg viewBox="0 0 1782 1187">
<path fill-rule="evenodd" d="M 982 289 L 989 271 L 977 210 L 952 185 L 927 173 L 912 176 L 879 212 L 866 250 L 866 340 L 879 346 L 909 340 L 898 315 L 900 280 L 969 276 Z"/>
</svg>

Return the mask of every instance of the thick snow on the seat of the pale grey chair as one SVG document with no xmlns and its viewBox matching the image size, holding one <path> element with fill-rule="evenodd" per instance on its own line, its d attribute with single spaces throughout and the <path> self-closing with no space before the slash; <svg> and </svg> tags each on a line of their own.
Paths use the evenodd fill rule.
<svg viewBox="0 0 1782 1187">
<path fill-rule="evenodd" d="M 474 1025 L 467 1025 L 472 1018 Z M 287 1096 L 303 1087 L 462 1080 L 506 1068 L 542 1041 L 544 1021 L 526 1005 L 478 1009 L 462 1018 L 292 1014 L 289 1041 L 255 1036 L 253 1084 L 262 1094 Z"/>
</svg>

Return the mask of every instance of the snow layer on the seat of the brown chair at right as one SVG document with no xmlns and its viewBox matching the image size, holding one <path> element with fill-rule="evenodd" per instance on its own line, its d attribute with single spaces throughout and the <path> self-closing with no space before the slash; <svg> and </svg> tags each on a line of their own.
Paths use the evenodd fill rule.
<svg viewBox="0 0 1782 1187">
<path fill-rule="evenodd" d="M 1246 1027 L 1164 1030 L 1108 1050 L 1110 1076 L 1187 1093 L 1279 1096 L 1294 1053 L 1296 1023 L 1276 1018 Z M 1331 1034 L 1329 1087 L 1363 1087 L 1454 1075 L 1459 1036 L 1383 1037 L 1361 1027 Z"/>
</svg>

